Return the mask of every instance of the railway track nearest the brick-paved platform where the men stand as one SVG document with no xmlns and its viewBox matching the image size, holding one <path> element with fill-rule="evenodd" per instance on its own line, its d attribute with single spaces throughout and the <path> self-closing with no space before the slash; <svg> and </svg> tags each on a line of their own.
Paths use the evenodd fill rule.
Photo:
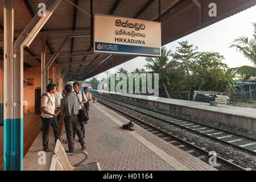
<svg viewBox="0 0 256 182">
<path fill-rule="evenodd" d="M 100 100 L 99 100 L 100 98 Z M 136 123 L 137 125 L 143 127 L 144 129 L 150 131 L 151 133 L 157 135 L 158 137 L 167 140 L 168 142 L 174 144 L 175 146 L 185 149 L 185 151 L 191 153 L 192 155 L 196 156 L 197 158 L 203 160 L 204 162 L 208 163 L 209 158 L 209 151 L 205 150 L 204 148 L 200 148 L 196 146 L 193 143 L 189 143 L 185 141 L 184 139 L 181 139 L 175 135 L 175 133 L 168 132 L 166 129 L 161 129 L 161 127 L 152 125 L 143 119 L 138 118 L 137 116 L 133 114 L 129 114 L 127 111 L 124 111 L 121 109 L 121 107 L 113 106 L 108 104 L 107 102 L 110 102 L 108 100 L 105 100 L 105 98 L 102 98 L 100 96 L 97 96 L 97 101 L 101 104 L 105 105 L 106 107 L 109 107 L 110 109 L 116 111 L 118 114 L 123 115 L 123 117 L 126 117 L 130 121 Z M 113 102 L 112 102 L 113 104 Z M 114 102 L 114 104 L 117 104 L 117 101 Z M 136 110 L 137 111 L 137 110 Z M 216 156 L 218 163 L 216 164 L 217 169 L 228 169 L 228 170 L 246 170 L 245 168 L 238 166 L 237 164 L 234 164 L 230 162 L 229 160 L 226 160 L 224 158 L 221 158 L 220 156 Z M 220 167 L 221 166 L 221 167 Z M 224 167 L 225 166 L 225 167 Z"/>
</svg>

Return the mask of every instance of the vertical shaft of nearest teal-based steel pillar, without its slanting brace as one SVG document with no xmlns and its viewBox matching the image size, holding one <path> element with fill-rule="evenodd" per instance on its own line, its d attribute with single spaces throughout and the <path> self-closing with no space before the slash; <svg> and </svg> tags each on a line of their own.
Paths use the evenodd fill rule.
<svg viewBox="0 0 256 182">
<path fill-rule="evenodd" d="M 23 170 L 23 62 L 14 53 L 14 0 L 4 5 L 3 170 Z M 21 88 L 22 79 L 22 88 Z"/>
</svg>

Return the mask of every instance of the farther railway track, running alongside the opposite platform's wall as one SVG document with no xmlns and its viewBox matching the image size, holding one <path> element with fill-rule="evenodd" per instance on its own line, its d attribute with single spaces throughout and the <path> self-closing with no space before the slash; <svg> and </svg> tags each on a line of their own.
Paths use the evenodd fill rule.
<svg viewBox="0 0 256 182">
<path fill-rule="evenodd" d="M 98 94 L 97 94 L 97 97 L 103 98 Z M 195 121 L 191 121 L 188 119 L 176 117 L 171 114 L 144 108 L 135 104 L 127 103 L 126 101 L 119 101 L 117 99 L 106 98 L 106 97 L 104 97 L 104 99 L 108 100 L 109 102 L 122 105 L 127 109 L 133 109 L 138 111 L 139 113 L 146 114 L 149 117 L 159 119 L 160 121 L 163 121 L 166 123 L 170 123 L 170 125 L 174 125 L 174 126 L 180 127 L 181 129 L 192 131 L 194 133 L 203 135 L 204 137 L 216 140 L 221 143 L 228 144 L 242 151 L 246 151 L 246 152 L 249 152 L 250 154 L 256 155 L 256 139 L 254 138 L 250 138 L 244 135 L 232 133 L 230 131 L 218 129 L 216 127 L 197 123 Z M 236 144 L 236 143 L 239 143 L 239 144 Z"/>
</svg>

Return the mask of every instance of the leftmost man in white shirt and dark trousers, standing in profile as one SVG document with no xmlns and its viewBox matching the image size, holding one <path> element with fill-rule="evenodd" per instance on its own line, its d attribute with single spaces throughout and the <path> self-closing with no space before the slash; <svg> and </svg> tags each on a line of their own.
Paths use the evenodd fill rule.
<svg viewBox="0 0 256 182">
<path fill-rule="evenodd" d="M 55 136 L 55 142 L 60 139 L 59 124 L 57 123 L 57 115 L 60 110 L 55 107 L 55 98 L 53 94 L 56 92 L 56 85 L 49 84 L 47 86 L 47 94 L 44 94 L 41 98 L 41 118 L 43 120 L 43 150 L 46 152 L 51 152 L 52 149 L 49 148 L 49 127 L 52 125 L 53 133 Z M 57 113 L 55 114 L 55 110 Z"/>
</svg>

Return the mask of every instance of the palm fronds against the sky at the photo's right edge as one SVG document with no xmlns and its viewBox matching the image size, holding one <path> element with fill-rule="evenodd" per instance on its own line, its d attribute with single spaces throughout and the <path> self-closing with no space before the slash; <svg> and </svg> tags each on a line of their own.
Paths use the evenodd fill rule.
<svg viewBox="0 0 256 182">
<path fill-rule="evenodd" d="M 256 65 L 256 23 L 253 23 L 254 33 L 253 39 L 242 36 L 234 40 L 234 43 L 230 47 L 236 47 L 247 59 L 249 59 L 254 65 Z"/>
</svg>

